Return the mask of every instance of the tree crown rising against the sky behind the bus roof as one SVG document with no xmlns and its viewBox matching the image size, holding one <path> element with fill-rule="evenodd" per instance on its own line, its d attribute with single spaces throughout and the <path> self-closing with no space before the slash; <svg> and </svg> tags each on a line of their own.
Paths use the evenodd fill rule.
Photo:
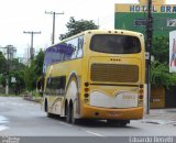
<svg viewBox="0 0 176 143">
<path fill-rule="evenodd" d="M 97 30 L 98 29 L 98 25 L 96 25 L 94 21 L 87 21 L 87 20 L 76 21 L 74 16 L 69 18 L 69 22 L 67 22 L 66 26 L 68 29 L 68 33 L 61 34 L 59 36 L 61 40 L 78 34 L 86 30 Z"/>
</svg>

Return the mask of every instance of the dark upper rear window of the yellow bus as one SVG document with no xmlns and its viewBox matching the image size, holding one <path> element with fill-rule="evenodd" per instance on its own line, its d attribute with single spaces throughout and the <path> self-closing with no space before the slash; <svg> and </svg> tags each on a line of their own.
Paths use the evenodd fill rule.
<svg viewBox="0 0 176 143">
<path fill-rule="evenodd" d="M 97 34 L 91 38 L 90 50 L 109 54 L 133 54 L 141 52 L 141 43 L 135 36 Z"/>
</svg>

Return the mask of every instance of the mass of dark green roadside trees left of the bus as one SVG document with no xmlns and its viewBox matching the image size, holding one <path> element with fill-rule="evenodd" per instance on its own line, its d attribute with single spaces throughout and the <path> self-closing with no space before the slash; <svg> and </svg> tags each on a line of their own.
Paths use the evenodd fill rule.
<svg viewBox="0 0 176 143">
<path fill-rule="evenodd" d="M 36 80 L 42 75 L 44 52 L 41 50 L 30 66 L 19 63 L 18 58 L 7 59 L 0 52 L 0 85 L 6 87 L 6 78 L 9 79 L 9 87 L 13 92 L 20 94 L 24 88 L 33 90 L 36 87 Z M 7 72 L 7 64 L 9 70 Z M 11 82 L 14 77 L 16 82 Z"/>
</svg>

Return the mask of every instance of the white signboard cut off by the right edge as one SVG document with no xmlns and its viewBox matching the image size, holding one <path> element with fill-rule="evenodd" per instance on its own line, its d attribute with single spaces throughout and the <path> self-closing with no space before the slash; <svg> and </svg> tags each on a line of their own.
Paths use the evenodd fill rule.
<svg viewBox="0 0 176 143">
<path fill-rule="evenodd" d="M 176 73 L 176 31 L 169 32 L 169 73 Z"/>
</svg>

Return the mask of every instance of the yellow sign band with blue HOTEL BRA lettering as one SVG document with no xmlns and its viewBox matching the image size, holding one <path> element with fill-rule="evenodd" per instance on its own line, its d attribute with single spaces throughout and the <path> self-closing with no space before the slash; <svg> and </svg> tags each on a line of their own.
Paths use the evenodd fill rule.
<svg viewBox="0 0 176 143">
<path fill-rule="evenodd" d="M 145 4 L 116 4 L 116 12 L 146 12 Z M 152 7 L 155 13 L 176 13 L 176 4 L 155 4 Z"/>
</svg>

